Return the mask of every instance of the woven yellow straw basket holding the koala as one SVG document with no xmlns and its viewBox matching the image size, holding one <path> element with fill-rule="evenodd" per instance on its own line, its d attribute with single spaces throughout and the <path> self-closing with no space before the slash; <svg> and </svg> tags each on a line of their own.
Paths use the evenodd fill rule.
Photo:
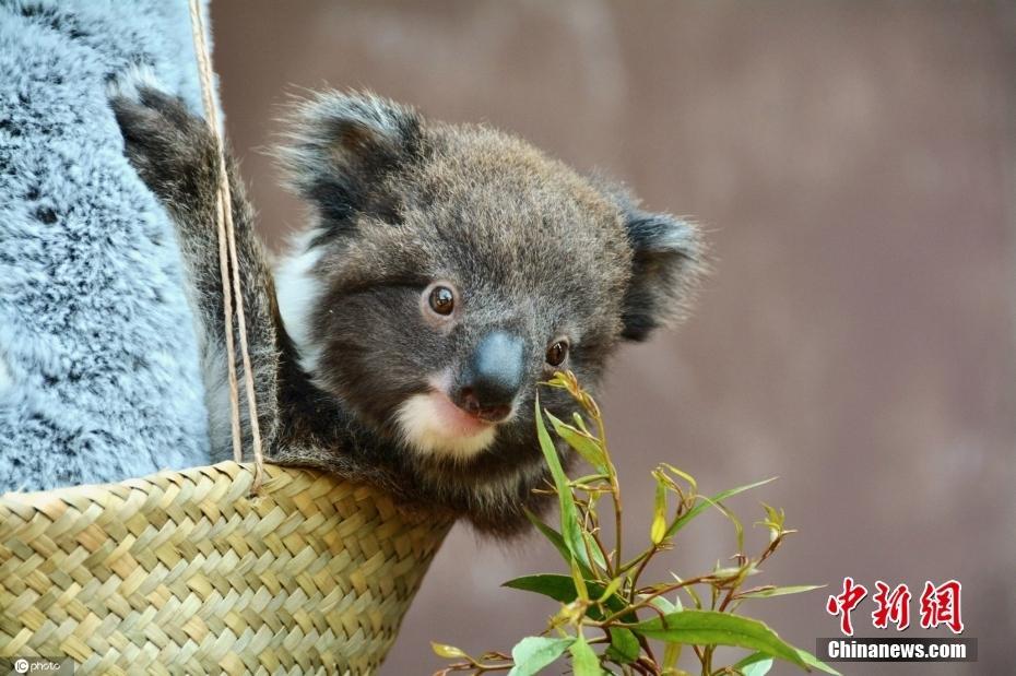
<svg viewBox="0 0 1016 676">
<path fill-rule="evenodd" d="M 86 674 L 370 674 L 450 521 L 224 462 L 0 496 L 0 657 Z"/>
</svg>

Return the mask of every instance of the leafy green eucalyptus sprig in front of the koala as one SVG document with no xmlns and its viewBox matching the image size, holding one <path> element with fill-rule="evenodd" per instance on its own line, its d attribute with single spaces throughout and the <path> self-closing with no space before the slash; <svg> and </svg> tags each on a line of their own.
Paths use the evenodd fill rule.
<svg viewBox="0 0 1016 676">
<path fill-rule="evenodd" d="M 489 652 L 473 657 L 452 645 L 434 643 L 435 653 L 456 661 L 435 676 L 457 672 L 529 676 L 560 659 L 570 661 L 576 676 L 684 676 L 688 672 L 677 663 L 686 647 L 694 652 L 702 676 L 761 676 L 773 660 L 805 671 L 838 674 L 807 651 L 785 642 L 764 622 L 735 614 L 748 598 L 817 589 L 814 585 L 744 589 L 747 579 L 758 573 L 761 564 L 795 531 L 785 526 L 783 510 L 763 503 L 765 519 L 756 525 L 769 531 L 769 541 L 760 553 L 749 556 L 745 554 L 744 526 L 724 501 L 771 478 L 704 496 L 692 475 L 661 463 L 652 472 L 655 491 L 648 545 L 627 559 L 622 550 L 621 485 L 600 408 L 571 372 L 556 373 L 544 384 L 566 390 L 581 411 L 565 423 L 543 411 L 536 400 L 536 432 L 554 479 L 548 489 L 557 496 L 559 530 L 534 514 L 530 514 L 530 520 L 560 554 L 566 569 L 562 573 L 517 578 L 505 586 L 542 594 L 558 602 L 559 608 L 540 636 L 523 638 L 510 654 Z M 547 420 L 554 434 L 586 460 L 592 474 L 575 479 L 565 474 Z M 601 529 L 600 508 L 604 499 L 610 501 L 613 514 L 613 542 L 607 541 Z M 733 524 L 737 550 L 730 557 L 732 564 L 721 567 L 718 562 L 712 570 L 690 578 L 671 573 L 671 579 L 664 581 L 643 580 L 649 564 L 673 548 L 681 531 L 710 507 Z M 720 645 L 749 652 L 739 662 L 717 666 L 716 649 Z"/>
</svg>

